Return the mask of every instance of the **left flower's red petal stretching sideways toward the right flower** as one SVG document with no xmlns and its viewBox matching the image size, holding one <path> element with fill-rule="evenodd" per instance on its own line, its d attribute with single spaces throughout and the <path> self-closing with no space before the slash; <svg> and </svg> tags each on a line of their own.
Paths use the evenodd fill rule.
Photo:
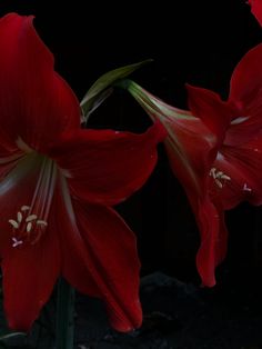
<svg viewBox="0 0 262 349">
<path fill-rule="evenodd" d="M 164 136 L 160 124 L 143 134 L 80 130 L 66 133 L 49 156 L 68 177 L 73 196 L 110 206 L 147 181 L 157 162 L 157 143 Z"/>
</svg>

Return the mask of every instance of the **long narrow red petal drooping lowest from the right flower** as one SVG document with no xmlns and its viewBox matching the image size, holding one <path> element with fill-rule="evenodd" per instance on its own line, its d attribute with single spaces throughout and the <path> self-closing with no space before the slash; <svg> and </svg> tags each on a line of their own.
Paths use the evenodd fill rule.
<svg viewBox="0 0 262 349">
<path fill-rule="evenodd" d="M 226 250 L 226 229 L 222 212 L 211 201 L 208 193 L 209 172 L 215 156 L 212 143 L 204 134 L 185 132 L 175 127 L 175 136 L 165 141 L 168 156 L 174 176 L 183 186 L 195 220 L 199 226 L 201 242 L 196 256 L 196 267 L 204 286 L 214 286 L 215 267 L 223 260 Z M 185 127 L 185 124 L 184 124 Z M 201 136 L 203 134 L 203 138 Z M 175 141 L 178 149 L 175 149 Z"/>
</svg>

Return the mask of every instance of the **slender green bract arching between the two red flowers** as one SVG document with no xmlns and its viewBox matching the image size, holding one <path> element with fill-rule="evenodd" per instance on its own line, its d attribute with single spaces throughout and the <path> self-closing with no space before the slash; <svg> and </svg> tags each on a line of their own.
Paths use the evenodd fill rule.
<svg viewBox="0 0 262 349">
<path fill-rule="evenodd" d="M 142 66 L 151 62 L 152 59 L 147 59 L 144 61 L 120 67 L 101 76 L 88 90 L 83 97 L 80 107 L 83 112 L 84 122 L 88 121 L 89 116 L 112 93 L 113 84 L 120 80 L 128 77 L 130 73 L 141 68 Z"/>
</svg>

